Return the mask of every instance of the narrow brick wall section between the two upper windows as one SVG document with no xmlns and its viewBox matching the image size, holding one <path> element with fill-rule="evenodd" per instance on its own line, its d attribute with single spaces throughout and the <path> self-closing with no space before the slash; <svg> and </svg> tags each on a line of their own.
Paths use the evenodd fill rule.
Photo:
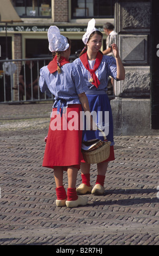
<svg viewBox="0 0 159 256">
<path fill-rule="evenodd" d="M 54 22 L 68 22 L 68 0 L 54 0 Z"/>
</svg>

